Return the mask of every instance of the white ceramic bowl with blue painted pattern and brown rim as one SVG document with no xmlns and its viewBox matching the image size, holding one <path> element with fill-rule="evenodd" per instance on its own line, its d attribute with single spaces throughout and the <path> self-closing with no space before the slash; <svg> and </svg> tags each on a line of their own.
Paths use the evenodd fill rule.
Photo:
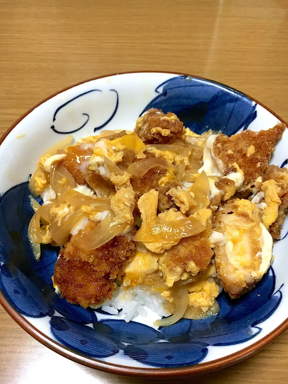
<svg viewBox="0 0 288 384">
<path fill-rule="evenodd" d="M 283 121 L 235 89 L 175 73 L 102 76 L 50 96 L 1 139 L 0 301 L 31 336 L 71 360 L 130 376 L 185 376 L 237 362 L 288 328 L 288 222 L 274 245 L 273 266 L 251 293 L 232 301 L 222 292 L 216 316 L 162 329 L 152 326 L 152 316 L 125 323 L 121 314 L 67 303 L 51 280 L 58 249 L 43 245 L 37 262 L 27 238 L 28 179 L 42 152 L 68 133 L 78 139 L 103 128 L 132 130 L 151 107 L 176 113 L 197 133 L 231 135 Z M 287 164 L 287 144 L 286 130 L 273 164 Z"/>
</svg>

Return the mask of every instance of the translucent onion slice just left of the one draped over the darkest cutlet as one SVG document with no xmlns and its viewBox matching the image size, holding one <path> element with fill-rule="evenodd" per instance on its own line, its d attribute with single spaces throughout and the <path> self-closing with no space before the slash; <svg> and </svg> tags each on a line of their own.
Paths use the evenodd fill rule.
<svg viewBox="0 0 288 384">
<path fill-rule="evenodd" d="M 53 222 L 49 226 L 49 232 L 55 243 L 58 245 L 64 245 L 68 242 L 70 237 L 70 231 L 83 217 L 87 214 L 83 212 L 77 212 L 73 215 L 67 215 L 61 220 L 61 224 L 58 225 L 58 220 Z"/>
</svg>

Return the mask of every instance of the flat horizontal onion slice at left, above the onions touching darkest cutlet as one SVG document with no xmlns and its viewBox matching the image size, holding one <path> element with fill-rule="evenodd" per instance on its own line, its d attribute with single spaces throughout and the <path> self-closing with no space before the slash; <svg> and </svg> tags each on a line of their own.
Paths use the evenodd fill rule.
<svg viewBox="0 0 288 384">
<path fill-rule="evenodd" d="M 110 199 L 107 197 L 86 196 L 73 188 L 67 189 L 63 195 L 61 195 L 60 203 L 63 204 L 64 202 L 74 205 L 75 207 L 93 204 L 97 210 L 105 211 L 110 209 Z"/>
</svg>

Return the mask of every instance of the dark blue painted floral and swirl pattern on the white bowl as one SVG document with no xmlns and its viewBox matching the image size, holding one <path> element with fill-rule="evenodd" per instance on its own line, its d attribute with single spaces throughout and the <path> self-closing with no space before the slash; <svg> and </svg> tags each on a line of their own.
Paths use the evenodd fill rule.
<svg viewBox="0 0 288 384">
<path fill-rule="evenodd" d="M 238 91 L 227 91 L 209 81 L 176 76 L 155 91 L 157 96 L 143 111 L 152 107 L 165 113 L 172 111 L 185 126 L 198 133 L 211 128 L 231 135 L 247 129 L 257 117 L 257 104 Z M 77 97 L 70 101 L 74 99 Z M 70 101 L 61 105 L 61 109 Z M 118 93 L 113 116 L 117 108 Z M 209 346 L 245 343 L 257 336 L 262 331 L 259 324 L 281 302 L 282 293 L 275 290 L 275 273 L 270 267 L 248 295 L 231 300 L 222 292 L 217 315 L 198 321 L 181 319 L 159 329 L 138 321 L 126 323 L 102 310 L 71 305 L 56 295 L 51 280 L 59 249 L 41 245 L 40 262 L 33 257 L 27 238 L 33 215 L 29 194 L 28 182 L 23 182 L 1 196 L 0 289 L 18 313 L 28 319 L 47 318 L 53 338 L 84 356 L 105 359 L 121 354 L 128 359 L 128 365 L 129 359 L 133 359 L 146 367 L 197 364 L 206 358 Z"/>
</svg>

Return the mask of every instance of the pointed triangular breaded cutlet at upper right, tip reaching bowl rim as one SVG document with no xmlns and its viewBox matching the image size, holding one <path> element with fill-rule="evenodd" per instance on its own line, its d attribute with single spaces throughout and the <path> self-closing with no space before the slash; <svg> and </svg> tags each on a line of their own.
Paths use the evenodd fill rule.
<svg viewBox="0 0 288 384">
<path fill-rule="evenodd" d="M 236 162 L 244 173 L 244 185 L 262 176 L 285 128 L 285 124 L 279 123 L 266 131 L 254 132 L 247 129 L 230 137 L 224 134 L 217 136 L 213 153 L 222 160 L 224 174 L 233 171 L 233 163 Z"/>
</svg>

